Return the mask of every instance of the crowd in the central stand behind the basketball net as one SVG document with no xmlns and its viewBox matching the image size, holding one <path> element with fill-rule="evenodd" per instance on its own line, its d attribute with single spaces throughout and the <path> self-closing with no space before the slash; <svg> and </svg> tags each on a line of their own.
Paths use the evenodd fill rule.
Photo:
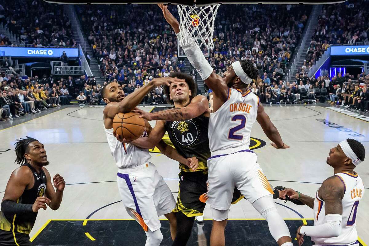
<svg viewBox="0 0 369 246">
<path fill-rule="evenodd" d="M 169 8 L 178 18 L 177 8 Z M 261 77 L 266 73 L 265 79 L 280 78 L 310 11 L 310 6 L 297 5 L 221 6 L 208 60 L 221 74 L 231 62 L 251 59 Z M 183 70 L 177 39 L 159 8 L 90 5 L 77 6 L 77 12 L 106 81 L 117 79 L 136 89 L 152 78 Z"/>
</svg>

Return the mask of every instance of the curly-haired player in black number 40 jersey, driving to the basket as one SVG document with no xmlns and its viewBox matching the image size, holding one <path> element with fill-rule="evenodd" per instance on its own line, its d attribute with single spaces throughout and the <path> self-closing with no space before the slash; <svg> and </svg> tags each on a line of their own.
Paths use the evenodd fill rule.
<svg viewBox="0 0 369 246">
<path fill-rule="evenodd" d="M 148 138 L 139 138 L 132 143 L 142 148 L 154 148 L 168 132 L 176 150 L 185 158 L 197 157 L 196 169 L 179 164 L 179 191 L 176 205 L 177 234 L 173 245 L 186 245 L 192 231 L 195 216 L 203 215 L 205 203 L 199 200 L 207 192 L 207 159 L 211 157 L 208 139 L 209 104 L 206 97 L 196 95 L 196 83 L 192 76 L 184 73 L 172 73 L 170 77 L 184 79 L 185 82 L 173 82 L 165 86 L 168 103 L 175 108 L 148 113 L 142 110 L 141 117 L 156 125 Z M 242 199 L 238 190 L 234 192 L 232 204 Z"/>
</svg>

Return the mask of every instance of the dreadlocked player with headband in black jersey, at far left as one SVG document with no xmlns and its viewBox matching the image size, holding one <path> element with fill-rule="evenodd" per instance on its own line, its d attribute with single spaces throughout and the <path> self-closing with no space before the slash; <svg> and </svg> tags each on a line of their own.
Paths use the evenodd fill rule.
<svg viewBox="0 0 369 246">
<path fill-rule="evenodd" d="M 38 209 L 59 208 L 65 181 L 56 174 L 52 180 L 44 166 L 48 165 L 44 145 L 27 137 L 15 143 L 17 164 L 10 176 L 1 202 L 0 245 L 31 245 L 30 232 Z M 54 184 L 56 192 L 52 187 Z"/>
</svg>

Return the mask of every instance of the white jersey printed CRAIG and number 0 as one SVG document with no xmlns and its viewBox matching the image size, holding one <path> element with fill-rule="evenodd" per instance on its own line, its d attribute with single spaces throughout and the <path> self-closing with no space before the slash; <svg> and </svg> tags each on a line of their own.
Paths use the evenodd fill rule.
<svg viewBox="0 0 369 246">
<path fill-rule="evenodd" d="M 356 216 L 358 215 L 359 202 L 364 195 L 364 185 L 358 174 L 337 173 L 339 179 L 345 186 L 345 194 L 342 199 L 342 231 L 335 238 L 311 237 L 315 245 L 349 245 L 358 240 L 356 232 Z M 319 190 L 319 189 L 318 189 Z M 324 212 L 324 201 L 318 197 L 318 191 L 314 200 L 314 225 L 326 223 Z"/>
</svg>

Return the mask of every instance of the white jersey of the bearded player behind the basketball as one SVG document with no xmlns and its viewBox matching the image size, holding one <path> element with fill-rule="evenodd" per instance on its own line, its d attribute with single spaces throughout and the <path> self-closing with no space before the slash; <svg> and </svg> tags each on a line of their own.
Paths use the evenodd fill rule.
<svg viewBox="0 0 369 246">
<path fill-rule="evenodd" d="M 104 126 L 104 131 L 108 139 L 111 155 L 119 168 L 141 166 L 151 158 L 148 149 L 141 149 L 129 143 L 119 142 L 113 135 L 113 128 L 106 129 Z"/>
</svg>

